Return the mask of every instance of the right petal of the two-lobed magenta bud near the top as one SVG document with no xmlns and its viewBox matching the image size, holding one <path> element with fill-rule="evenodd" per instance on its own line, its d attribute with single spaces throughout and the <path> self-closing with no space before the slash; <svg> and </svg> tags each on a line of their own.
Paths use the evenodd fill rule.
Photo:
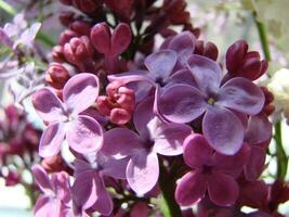
<svg viewBox="0 0 289 217">
<path fill-rule="evenodd" d="M 113 33 L 110 54 L 116 55 L 126 51 L 131 42 L 131 29 L 126 23 L 120 23 Z"/>
</svg>

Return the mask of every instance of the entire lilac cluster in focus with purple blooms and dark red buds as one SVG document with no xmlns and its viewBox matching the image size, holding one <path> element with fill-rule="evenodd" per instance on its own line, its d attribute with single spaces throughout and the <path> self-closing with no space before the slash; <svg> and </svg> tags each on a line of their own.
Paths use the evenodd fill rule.
<svg viewBox="0 0 289 217">
<path fill-rule="evenodd" d="M 42 166 L 32 167 L 35 216 L 157 216 L 161 194 L 176 217 L 194 216 L 180 208 L 194 204 L 197 216 L 246 215 L 242 206 L 259 209 L 248 216 L 277 214 L 288 187 L 259 180 L 274 107 L 254 84 L 267 69 L 258 52 L 236 41 L 222 68 L 184 0 L 61 2 L 81 13 L 61 14 L 67 29 L 47 87 L 32 95 L 47 126 Z M 154 48 L 157 34 L 163 42 Z"/>
</svg>

